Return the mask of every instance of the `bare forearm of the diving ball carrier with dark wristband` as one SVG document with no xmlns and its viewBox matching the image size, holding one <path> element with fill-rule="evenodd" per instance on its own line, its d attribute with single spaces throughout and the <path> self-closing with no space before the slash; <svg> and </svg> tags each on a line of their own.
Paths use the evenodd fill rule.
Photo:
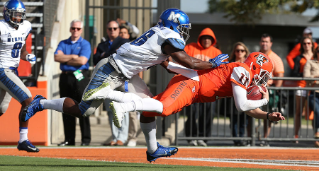
<svg viewBox="0 0 319 171">
<path fill-rule="evenodd" d="M 249 110 L 245 112 L 247 115 L 257 119 L 268 119 L 270 121 L 285 120 L 285 117 L 280 112 L 267 113 L 260 108 Z"/>
</svg>

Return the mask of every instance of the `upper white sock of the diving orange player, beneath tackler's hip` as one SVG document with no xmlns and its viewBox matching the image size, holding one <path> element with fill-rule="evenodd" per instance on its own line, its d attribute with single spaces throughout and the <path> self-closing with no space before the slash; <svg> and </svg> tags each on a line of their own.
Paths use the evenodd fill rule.
<svg viewBox="0 0 319 171">
<path fill-rule="evenodd" d="M 136 99 L 142 99 L 140 96 L 134 93 L 124 93 L 121 91 L 111 91 L 107 94 L 106 98 L 117 101 L 117 102 L 121 102 L 121 103 L 130 102 Z"/>
</svg>

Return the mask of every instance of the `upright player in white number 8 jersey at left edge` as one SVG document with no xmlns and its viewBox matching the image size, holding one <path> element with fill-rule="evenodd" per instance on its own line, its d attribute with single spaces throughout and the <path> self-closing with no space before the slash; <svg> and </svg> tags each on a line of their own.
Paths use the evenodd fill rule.
<svg viewBox="0 0 319 171">
<path fill-rule="evenodd" d="M 17 67 L 20 58 L 31 64 L 36 62 L 36 57 L 26 51 L 25 40 L 31 23 L 25 20 L 24 4 L 20 0 L 6 2 L 3 17 L 0 20 L 0 116 L 8 109 L 12 97 L 21 103 L 21 111 L 31 103 L 31 93 L 17 76 Z M 39 152 L 28 140 L 28 121 L 19 121 L 19 132 L 18 150 Z"/>
</svg>

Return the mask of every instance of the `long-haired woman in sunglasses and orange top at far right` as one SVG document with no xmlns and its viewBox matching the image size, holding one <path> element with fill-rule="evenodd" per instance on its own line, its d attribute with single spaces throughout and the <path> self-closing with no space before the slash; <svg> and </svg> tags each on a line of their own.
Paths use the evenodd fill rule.
<svg viewBox="0 0 319 171">
<path fill-rule="evenodd" d="M 313 58 L 314 52 L 314 42 L 311 37 L 303 37 L 300 41 L 302 44 L 300 48 L 300 55 L 294 59 L 294 69 L 292 75 L 294 77 L 303 77 L 304 66 L 306 62 Z M 298 81 L 299 87 L 305 87 L 306 81 Z M 307 91 L 306 90 L 297 90 L 296 91 L 296 114 L 295 114 L 295 138 L 298 138 L 298 133 L 300 129 L 300 118 L 304 112 L 304 105 L 306 102 Z M 303 112 L 301 112 L 303 111 Z M 296 141 L 298 143 L 298 141 Z"/>
</svg>

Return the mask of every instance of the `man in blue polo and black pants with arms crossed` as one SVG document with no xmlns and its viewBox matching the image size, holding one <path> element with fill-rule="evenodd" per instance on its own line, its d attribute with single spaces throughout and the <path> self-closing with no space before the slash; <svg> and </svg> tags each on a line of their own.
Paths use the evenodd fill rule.
<svg viewBox="0 0 319 171">
<path fill-rule="evenodd" d="M 71 97 L 80 102 L 86 85 L 90 81 L 88 60 L 91 56 L 91 45 L 81 37 L 83 22 L 73 20 L 70 25 L 71 36 L 59 43 L 54 60 L 60 63 L 60 97 Z M 65 139 L 59 146 L 75 145 L 76 118 L 62 115 Z M 87 146 L 91 142 L 90 118 L 79 118 L 81 128 L 81 145 Z"/>
</svg>

